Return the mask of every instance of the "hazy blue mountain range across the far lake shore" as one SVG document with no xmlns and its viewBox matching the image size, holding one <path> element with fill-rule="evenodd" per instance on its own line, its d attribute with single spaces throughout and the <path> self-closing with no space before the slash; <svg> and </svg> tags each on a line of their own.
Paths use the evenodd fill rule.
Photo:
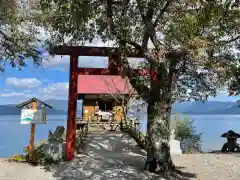
<svg viewBox="0 0 240 180">
<path fill-rule="evenodd" d="M 47 114 L 67 114 L 68 101 L 49 99 L 45 101 L 53 109 L 47 109 Z M 133 105 L 134 109 L 134 105 Z M 20 115 L 21 109 L 16 105 L 0 105 L 0 115 Z M 177 102 L 172 107 L 172 113 L 185 114 L 240 114 L 240 102 Z M 82 114 L 82 102 L 78 101 L 77 115 Z"/>
</svg>

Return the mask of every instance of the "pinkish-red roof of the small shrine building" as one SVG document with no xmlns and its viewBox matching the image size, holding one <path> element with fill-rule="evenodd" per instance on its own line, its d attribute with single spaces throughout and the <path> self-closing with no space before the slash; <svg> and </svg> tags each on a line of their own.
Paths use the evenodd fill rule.
<svg viewBox="0 0 240 180">
<path fill-rule="evenodd" d="M 110 75 L 78 75 L 78 94 L 131 94 L 128 78 Z"/>
</svg>

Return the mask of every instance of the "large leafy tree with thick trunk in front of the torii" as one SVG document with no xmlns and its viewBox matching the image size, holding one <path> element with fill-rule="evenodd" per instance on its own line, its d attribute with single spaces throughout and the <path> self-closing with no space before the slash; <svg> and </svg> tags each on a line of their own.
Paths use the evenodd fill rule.
<svg viewBox="0 0 240 180">
<path fill-rule="evenodd" d="M 81 44 L 100 38 L 121 49 L 124 75 L 148 103 L 150 146 L 146 169 L 157 159 L 173 168 L 169 119 L 176 100 L 206 100 L 223 84 L 240 39 L 239 2 L 203 0 L 40 0 L 38 23 L 52 32 L 53 44 Z M 152 47 L 148 47 L 149 42 Z M 136 76 L 127 61 L 137 50 L 142 68 Z"/>
</svg>

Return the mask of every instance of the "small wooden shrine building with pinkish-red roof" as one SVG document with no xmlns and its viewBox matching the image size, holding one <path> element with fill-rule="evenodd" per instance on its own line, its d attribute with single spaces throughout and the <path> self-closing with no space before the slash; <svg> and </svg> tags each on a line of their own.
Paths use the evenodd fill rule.
<svg viewBox="0 0 240 180">
<path fill-rule="evenodd" d="M 82 117 L 88 122 L 124 120 L 127 97 L 134 92 L 127 78 L 107 75 L 78 75 L 78 99 Z"/>
</svg>

